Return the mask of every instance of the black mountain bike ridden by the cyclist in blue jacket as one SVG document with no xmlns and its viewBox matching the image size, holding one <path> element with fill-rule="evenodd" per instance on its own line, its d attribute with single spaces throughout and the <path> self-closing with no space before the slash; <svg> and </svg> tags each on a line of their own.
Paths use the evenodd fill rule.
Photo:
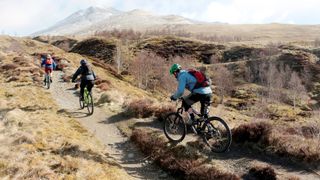
<svg viewBox="0 0 320 180">
<path fill-rule="evenodd" d="M 179 102 L 183 99 L 180 98 Z M 205 114 L 198 113 L 192 108 L 197 116 L 190 125 L 194 133 L 202 137 L 212 152 L 222 153 L 229 149 L 232 141 L 231 131 L 227 123 L 220 117 L 208 117 L 210 103 L 205 104 Z M 164 120 L 163 130 L 166 137 L 173 143 L 183 141 L 187 133 L 187 125 L 182 117 L 183 105 L 177 112 L 170 113 Z"/>
</svg>

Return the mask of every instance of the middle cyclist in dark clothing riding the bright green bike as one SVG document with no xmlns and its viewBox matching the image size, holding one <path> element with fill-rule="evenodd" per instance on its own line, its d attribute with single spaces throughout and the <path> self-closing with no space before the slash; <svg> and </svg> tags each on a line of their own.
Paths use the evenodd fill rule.
<svg viewBox="0 0 320 180">
<path fill-rule="evenodd" d="M 81 83 L 80 83 L 80 98 L 83 100 L 84 97 L 84 88 L 87 87 L 89 93 L 91 93 L 91 89 L 94 86 L 94 80 L 96 80 L 96 75 L 93 72 L 89 63 L 82 59 L 80 61 L 80 67 L 77 71 L 73 74 L 72 82 L 75 82 L 77 77 L 81 75 Z"/>
</svg>

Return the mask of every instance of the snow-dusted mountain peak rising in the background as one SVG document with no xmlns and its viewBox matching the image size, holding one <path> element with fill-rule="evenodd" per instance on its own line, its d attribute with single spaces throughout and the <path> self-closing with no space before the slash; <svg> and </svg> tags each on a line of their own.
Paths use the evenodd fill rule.
<svg viewBox="0 0 320 180">
<path fill-rule="evenodd" d="M 113 8 L 90 7 L 77 11 L 54 26 L 33 35 L 91 34 L 111 29 L 145 29 L 157 25 L 194 24 L 196 21 L 177 16 L 158 16 L 135 9 L 122 12 Z"/>
</svg>

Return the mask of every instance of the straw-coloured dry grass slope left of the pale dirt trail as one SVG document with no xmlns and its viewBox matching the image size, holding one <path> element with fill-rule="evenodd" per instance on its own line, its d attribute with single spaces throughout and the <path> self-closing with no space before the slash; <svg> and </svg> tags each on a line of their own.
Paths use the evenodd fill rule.
<svg viewBox="0 0 320 180">
<path fill-rule="evenodd" d="M 6 57 L 1 75 L 16 71 L 23 79 L 41 73 L 33 64 L 11 65 L 14 57 Z M 14 61 L 23 65 L 30 57 Z M 75 119 L 57 113 L 48 92 L 34 84 L 37 78 L 3 83 L 8 78 L 0 76 L 0 178 L 130 179 L 92 134 Z"/>
</svg>

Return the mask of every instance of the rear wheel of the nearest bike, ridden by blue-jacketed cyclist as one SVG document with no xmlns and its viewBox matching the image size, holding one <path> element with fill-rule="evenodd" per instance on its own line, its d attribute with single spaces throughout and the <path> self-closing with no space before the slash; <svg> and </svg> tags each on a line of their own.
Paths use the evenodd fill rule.
<svg viewBox="0 0 320 180">
<path fill-rule="evenodd" d="M 210 117 L 202 126 L 203 140 L 212 152 L 222 153 L 229 150 L 232 136 L 227 123 L 219 117 Z"/>
</svg>

